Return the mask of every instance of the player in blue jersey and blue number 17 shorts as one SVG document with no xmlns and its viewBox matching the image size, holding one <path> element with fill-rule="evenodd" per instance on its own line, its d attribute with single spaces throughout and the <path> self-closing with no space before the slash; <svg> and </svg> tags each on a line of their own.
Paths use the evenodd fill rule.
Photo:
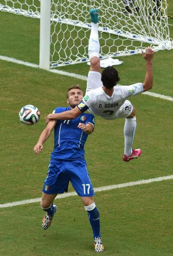
<svg viewBox="0 0 173 256">
<path fill-rule="evenodd" d="M 67 108 L 56 108 L 53 113 L 62 113 L 74 109 L 83 98 L 79 85 L 71 86 L 67 92 Z M 76 193 L 81 197 L 93 230 L 94 250 L 98 253 L 104 250 L 100 234 L 100 216 L 94 203 L 94 191 L 84 158 L 84 144 L 94 129 L 93 114 L 81 113 L 73 120 L 52 120 L 34 146 L 35 154 L 43 149 L 43 143 L 54 129 L 54 150 L 48 166 L 44 182 L 41 208 L 46 211 L 42 221 L 43 229 L 47 229 L 53 219 L 57 206 L 53 201 L 57 194 L 67 192 L 71 181 Z"/>
</svg>

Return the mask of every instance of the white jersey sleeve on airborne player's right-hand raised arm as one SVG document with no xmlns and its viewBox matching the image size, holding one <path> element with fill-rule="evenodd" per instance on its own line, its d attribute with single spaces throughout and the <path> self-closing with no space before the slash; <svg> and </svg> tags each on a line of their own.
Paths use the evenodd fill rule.
<svg viewBox="0 0 173 256">
<path fill-rule="evenodd" d="M 132 84 L 128 86 L 122 86 L 122 92 L 124 99 L 127 99 L 131 96 L 135 96 L 137 94 L 143 93 L 144 88 L 142 83 Z"/>
</svg>

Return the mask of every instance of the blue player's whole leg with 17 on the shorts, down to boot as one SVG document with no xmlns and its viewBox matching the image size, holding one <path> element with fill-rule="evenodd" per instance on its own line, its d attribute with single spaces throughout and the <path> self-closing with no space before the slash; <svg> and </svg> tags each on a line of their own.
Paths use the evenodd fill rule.
<svg viewBox="0 0 173 256">
<path fill-rule="evenodd" d="M 70 172 L 72 186 L 81 197 L 84 208 L 88 213 L 94 237 L 94 250 L 99 253 L 104 250 L 100 234 L 100 214 L 94 203 L 93 186 L 85 160 L 73 161 L 73 167 L 71 166 Z"/>
</svg>

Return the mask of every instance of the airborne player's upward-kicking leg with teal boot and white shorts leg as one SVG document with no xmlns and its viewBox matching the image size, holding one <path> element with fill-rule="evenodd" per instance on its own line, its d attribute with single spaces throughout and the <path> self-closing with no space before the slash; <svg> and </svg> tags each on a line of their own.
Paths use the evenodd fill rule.
<svg viewBox="0 0 173 256">
<path fill-rule="evenodd" d="M 92 89 L 96 89 L 98 87 L 102 87 L 103 84 L 101 82 L 101 68 L 100 68 L 100 44 L 99 44 L 99 18 L 98 18 L 98 10 L 92 9 L 90 10 L 91 17 L 91 34 L 88 45 L 88 55 L 90 59 L 90 70 L 87 79 L 86 93 Z"/>
</svg>

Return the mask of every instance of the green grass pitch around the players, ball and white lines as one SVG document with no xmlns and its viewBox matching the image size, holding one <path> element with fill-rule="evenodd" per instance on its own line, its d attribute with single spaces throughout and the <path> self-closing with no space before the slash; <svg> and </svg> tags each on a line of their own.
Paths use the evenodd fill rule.
<svg viewBox="0 0 173 256">
<path fill-rule="evenodd" d="M 173 15 L 173 3 L 169 13 Z M 169 20 L 173 24 L 173 19 Z M 39 20 L 0 12 L 0 55 L 38 64 Z M 173 26 L 170 26 L 173 38 Z M 120 84 L 143 82 L 145 61 L 141 55 L 121 57 L 117 67 Z M 152 92 L 173 97 L 173 50 L 154 56 Z M 60 70 L 87 76 L 86 63 Z M 42 154 L 33 147 L 45 128 L 45 117 L 57 106 L 66 106 L 66 91 L 86 82 L 36 68 L 0 60 L 0 204 L 41 197 L 53 134 Z M 134 148 L 142 156 L 125 163 L 124 119 L 96 118 L 94 133 L 85 145 L 85 157 L 95 188 L 172 175 L 173 102 L 138 95 L 130 99 L 137 110 Z M 23 105 L 34 104 L 41 116 L 34 126 L 20 123 Z M 173 180 L 95 193 L 100 211 L 106 256 L 173 256 Z M 74 191 L 72 186 L 69 192 Z M 56 199 L 58 212 L 44 231 L 39 202 L 0 208 L 0 255 L 92 256 L 92 231 L 78 196 Z"/>
</svg>

